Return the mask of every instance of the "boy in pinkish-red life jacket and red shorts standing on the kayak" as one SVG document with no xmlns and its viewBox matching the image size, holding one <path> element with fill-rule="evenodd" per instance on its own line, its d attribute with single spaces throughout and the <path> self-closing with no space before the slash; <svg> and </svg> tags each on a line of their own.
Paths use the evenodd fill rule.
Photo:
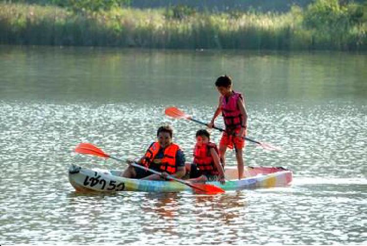
<svg viewBox="0 0 367 246">
<path fill-rule="evenodd" d="M 223 159 L 223 165 L 225 165 L 227 147 L 234 147 L 236 151 L 238 179 L 241 179 L 243 176 L 242 149 L 245 146 L 243 137 L 246 136 L 247 128 L 247 113 L 244 106 L 244 98 L 240 92 L 232 90 L 232 79 L 230 76 L 223 75 L 218 77 L 215 81 L 215 86 L 220 93 L 219 104 L 213 118 L 207 126 L 212 128 L 215 119 L 222 112 L 226 129 L 219 143 L 220 157 Z"/>
</svg>

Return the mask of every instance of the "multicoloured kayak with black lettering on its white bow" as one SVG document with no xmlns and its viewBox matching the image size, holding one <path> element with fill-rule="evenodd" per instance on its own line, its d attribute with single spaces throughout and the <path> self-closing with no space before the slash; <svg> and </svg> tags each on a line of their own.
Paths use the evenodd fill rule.
<svg viewBox="0 0 367 246">
<path fill-rule="evenodd" d="M 283 167 L 246 167 L 249 177 L 238 180 L 237 168 L 226 168 L 225 184 L 218 181 L 206 182 L 225 191 L 271 188 L 287 186 L 292 182 L 292 172 Z M 69 182 L 78 192 L 115 193 L 120 191 L 138 192 L 181 192 L 193 191 L 187 185 L 176 181 L 142 180 L 121 177 L 119 170 L 69 167 Z M 195 184 L 195 183 L 193 183 Z"/>
</svg>

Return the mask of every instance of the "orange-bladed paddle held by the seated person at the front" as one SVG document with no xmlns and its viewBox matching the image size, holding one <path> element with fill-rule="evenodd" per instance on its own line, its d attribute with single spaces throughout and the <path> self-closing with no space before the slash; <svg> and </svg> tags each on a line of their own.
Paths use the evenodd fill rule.
<svg viewBox="0 0 367 246">
<path fill-rule="evenodd" d="M 91 154 L 91 155 L 96 155 L 96 156 L 99 156 L 99 157 L 111 158 L 111 159 L 114 159 L 116 161 L 123 162 L 123 160 L 121 160 L 121 159 L 119 159 L 119 158 L 117 158 L 115 156 L 109 155 L 109 154 L 103 152 L 102 149 L 97 148 L 94 145 L 88 144 L 88 143 L 81 143 L 81 144 L 79 144 L 75 148 L 75 152 L 81 153 L 81 154 Z M 162 173 L 161 172 L 157 172 L 155 170 L 145 168 L 143 166 L 138 165 L 137 163 L 132 163 L 130 165 L 132 165 L 134 167 L 137 167 L 137 168 L 141 168 L 141 169 L 150 171 L 150 172 L 153 172 L 153 173 L 156 173 L 156 174 L 159 174 L 159 175 L 162 176 Z M 201 183 L 191 184 L 188 181 L 184 181 L 182 179 L 176 178 L 176 177 L 171 176 L 171 175 L 167 175 L 167 178 L 173 179 L 173 180 L 175 180 L 175 181 L 177 181 L 179 183 L 182 183 L 182 184 L 185 184 L 187 186 L 190 186 L 196 192 L 199 191 L 201 193 L 210 194 L 210 195 L 215 195 L 215 194 L 218 194 L 218 193 L 224 193 L 225 192 L 220 187 L 215 186 L 215 185 L 211 185 L 211 184 L 201 184 Z"/>
</svg>

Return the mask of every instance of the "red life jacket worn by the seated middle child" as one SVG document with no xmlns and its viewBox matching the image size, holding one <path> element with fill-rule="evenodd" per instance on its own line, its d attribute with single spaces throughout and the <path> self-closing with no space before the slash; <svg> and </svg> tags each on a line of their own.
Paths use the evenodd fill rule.
<svg viewBox="0 0 367 246">
<path fill-rule="evenodd" d="M 219 155 L 217 146 L 214 143 L 202 144 L 201 147 L 195 145 L 194 149 L 194 164 L 196 167 L 206 174 L 218 175 L 219 172 L 215 167 L 213 157 L 210 154 L 210 148 L 214 148 Z"/>
</svg>

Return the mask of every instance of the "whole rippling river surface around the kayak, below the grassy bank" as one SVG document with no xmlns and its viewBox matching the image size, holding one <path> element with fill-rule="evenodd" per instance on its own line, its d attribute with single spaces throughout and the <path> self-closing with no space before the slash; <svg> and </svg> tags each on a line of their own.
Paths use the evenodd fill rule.
<svg viewBox="0 0 367 246">
<path fill-rule="evenodd" d="M 248 137 L 283 148 L 248 143 L 246 165 L 287 167 L 291 186 L 74 192 L 70 164 L 125 168 L 73 153 L 81 142 L 138 157 L 168 123 L 192 160 L 201 126 L 164 108 L 210 120 L 221 74 L 245 95 Z M 366 244 L 366 129 L 366 53 L 2 46 L 0 244 Z"/>
</svg>

